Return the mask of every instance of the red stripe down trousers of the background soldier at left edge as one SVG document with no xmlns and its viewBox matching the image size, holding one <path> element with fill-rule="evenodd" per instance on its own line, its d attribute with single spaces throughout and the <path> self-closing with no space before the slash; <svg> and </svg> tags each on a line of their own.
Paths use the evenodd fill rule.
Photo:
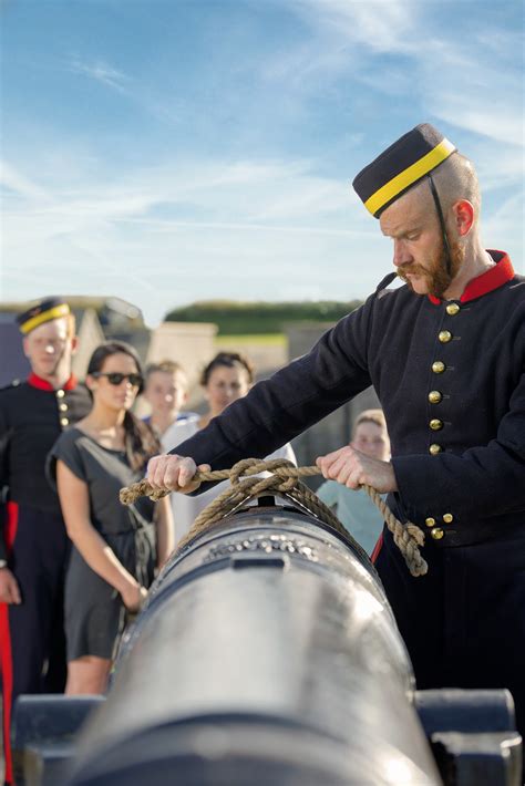
<svg viewBox="0 0 525 786">
<path fill-rule="evenodd" d="M 4 537 L 8 557 L 11 552 L 18 527 L 18 505 L 8 503 Z M 13 690 L 13 664 L 11 656 L 11 634 L 9 631 L 9 604 L 0 603 L 0 670 L 2 674 L 2 710 L 3 710 L 3 756 L 6 758 L 6 783 L 12 783 L 11 759 L 11 699 Z"/>
</svg>

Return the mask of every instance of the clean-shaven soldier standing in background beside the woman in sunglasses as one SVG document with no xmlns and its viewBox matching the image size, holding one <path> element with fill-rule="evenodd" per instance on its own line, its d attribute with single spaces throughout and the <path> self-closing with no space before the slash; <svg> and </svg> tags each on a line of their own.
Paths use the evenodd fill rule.
<svg viewBox="0 0 525 786">
<path fill-rule="evenodd" d="M 21 693 L 65 685 L 63 581 L 69 539 L 45 457 L 91 400 L 71 373 L 76 347 L 68 303 L 43 300 L 18 317 L 31 374 L 0 391 L 0 487 L 8 489 L 0 537 L 0 668 L 6 780 L 11 779 L 11 707 Z M 0 532 L 1 535 L 1 532 Z"/>
</svg>

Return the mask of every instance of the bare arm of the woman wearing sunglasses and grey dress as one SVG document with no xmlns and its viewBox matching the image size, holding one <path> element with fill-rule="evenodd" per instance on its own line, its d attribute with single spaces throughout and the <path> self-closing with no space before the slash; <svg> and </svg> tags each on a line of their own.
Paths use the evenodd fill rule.
<svg viewBox="0 0 525 786">
<path fill-rule="evenodd" d="M 61 459 L 56 462 L 56 486 L 68 535 L 76 549 L 90 568 L 121 593 L 130 610 L 138 608 L 144 588 L 94 529 L 87 486 Z"/>
</svg>

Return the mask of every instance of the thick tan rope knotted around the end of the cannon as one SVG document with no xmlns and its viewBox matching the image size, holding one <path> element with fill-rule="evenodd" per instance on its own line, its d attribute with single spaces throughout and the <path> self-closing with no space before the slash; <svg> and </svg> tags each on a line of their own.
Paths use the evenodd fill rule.
<svg viewBox="0 0 525 786">
<path fill-rule="evenodd" d="M 254 477 L 262 472 L 270 472 L 271 475 L 269 477 Z M 348 537 L 347 530 L 330 508 L 308 486 L 299 480 L 300 477 L 312 477 L 320 474 L 321 472 L 318 467 L 296 467 L 285 458 L 272 458 L 270 461 L 245 458 L 241 462 L 237 462 L 230 469 L 197 470 L 194 475 L 194 480 L 227 480 L 229 478 L 231 485 L 210 501 L 197 516 L 188 534 L 179 541 L 176 551 L 181 551 L 196 535 L 227 516 L 243 501 L 276 493 L 288 495 L 299 505 L 308 508 L 321 521 Z M 363 484 L 361 488 L 366 490 L 372 503 L 381 511 L 383 520 L 392 532 L 394 544 L 403 555 L 411 575 L 424 576 L 429 568 L 419 550 L 419 547 L 424 545 L 423 531 L 411 521 L 404 525 L 401 524 L 372 486 Z M 168 489 L 154 489 L 148 480 L 144 479 L 122 488 L 120 498 L 123 505 L 131 505 L 138 497 L 150 497 L 156 501 L 169 493 Z"/>
</svg>

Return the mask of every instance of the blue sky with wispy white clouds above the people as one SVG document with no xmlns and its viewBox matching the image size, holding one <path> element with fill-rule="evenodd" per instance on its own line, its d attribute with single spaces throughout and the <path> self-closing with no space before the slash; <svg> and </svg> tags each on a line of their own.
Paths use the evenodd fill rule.
<svg viewBox="0 0 525 786">
<path fill-rule="evenodd" d="M 0 0 L 0 300 L 351 300 L 354 175 L 430 122 L 524 251 L 522 0 Z"/>
</svg>

